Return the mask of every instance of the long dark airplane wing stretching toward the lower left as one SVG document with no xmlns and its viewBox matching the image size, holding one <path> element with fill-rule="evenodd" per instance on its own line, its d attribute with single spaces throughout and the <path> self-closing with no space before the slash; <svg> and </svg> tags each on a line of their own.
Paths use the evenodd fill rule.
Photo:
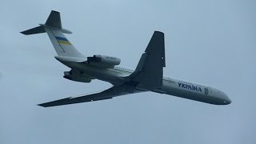
<svg viewBox="0 0 256 144">
<path fill-rule="evenodd" d="M 63 98 L 59 99 L 53 102 L 46 102 L 39 104 L 38 106 L 43 107 L 50 107 L 50 106 L 62 106 L 62 105 L 69 105 L 74 103 L 81 103 L 81 102 L 93 102 L 93 101 L 99 101 L 104 99 L 110 99 L 113 97 L 117 97 L 120 95 L 130 94 L 130 92 L 126 91 L 126 85 L 121 86 L 113 86 L 108 90 L 104 90 L 97 94 L 89 94 L 89 95 L 83 95 L 79 97 L 70 97 L 70 98 Z M 135 89 L 134 89 L 135 90 Z"/>
</svg>

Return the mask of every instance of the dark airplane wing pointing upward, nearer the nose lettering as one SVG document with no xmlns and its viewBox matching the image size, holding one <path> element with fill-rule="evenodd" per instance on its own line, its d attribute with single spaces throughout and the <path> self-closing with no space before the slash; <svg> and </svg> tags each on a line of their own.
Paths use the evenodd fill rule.
<svg viewBox="0 0 256 144">
<path fill-rule="evenodd" d="M 128 78 L 140 82 L 146 90 L 154 90 L 162 86 L 163 67 L 166 66 L 164 34 L 154 31 L 145 53 L 142 54 L 138 66 Z"/>
</svg>

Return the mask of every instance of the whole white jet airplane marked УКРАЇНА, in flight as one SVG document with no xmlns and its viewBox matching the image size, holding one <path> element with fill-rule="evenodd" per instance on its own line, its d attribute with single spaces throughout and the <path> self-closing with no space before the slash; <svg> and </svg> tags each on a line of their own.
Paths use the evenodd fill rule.
<svg viewBox="0 0 256 144">
<path fill-rule="evenodd" d="M 213 86 L 163 76 L 163 67 L 166 67 L 166 56 L 164 34 L 160 31 L 154 31 L 135 70 L 118 66 L 121 62 L 120 58 L 102 54 L 86 57 L 81 54 L 64 35 L 72 34 L 72 32 L 62 28 L 58 11 L 52 10 L 45 24 L 39 24 L 39 26 L 21 33 L 26 35 L 48 34 L 57 52 L 57 56 L 54 58 L 71 69 L 64 72 L 63 78 L 75 82 L 91 82 L 93 79 L 99 79 L 113 85 L 110 89 L 103 90 L 100 93 L 63 98 L 38 104 L 38 106 L 50 107 L 94 102 L 146 91 L 169 94 L 214 105 L 228 105 L 231 103 L 230 98 L 222 90 Z"/>
</svg>

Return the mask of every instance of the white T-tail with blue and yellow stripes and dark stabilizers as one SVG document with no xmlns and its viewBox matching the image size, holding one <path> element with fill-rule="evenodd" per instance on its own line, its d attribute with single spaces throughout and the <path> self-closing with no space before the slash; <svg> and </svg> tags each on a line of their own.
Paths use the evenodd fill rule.
<svg viewBox="0 0 256 144">
<path fill-rule="evenodd" d="M 74 58 L 85 58 L 84 55 L 78 52 L 74 46 L 67 40 L 65 35 L 72 34 L 70 30 L 62 28 L 61 16 L 58 11 L 52 10 L 45 24 L 40 24 L 40 26 L 34 27 L 30 30 L 22 31 L 22 34 L 40 34 L 47 33 L 50 41 L 52 42 L 54 49 L 56 50 L 58 56 L 64 57 L 74 57 Z"/>
</svg>

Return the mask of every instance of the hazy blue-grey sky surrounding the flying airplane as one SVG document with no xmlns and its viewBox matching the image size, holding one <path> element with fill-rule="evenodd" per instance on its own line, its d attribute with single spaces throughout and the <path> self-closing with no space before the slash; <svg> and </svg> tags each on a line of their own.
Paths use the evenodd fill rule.
<svg viewBox="0 0 256 144">
<path fill-rule="evenodd" d="M 256 1 L 0 2 L 0 143 L 255 143 Z M 42 108 L 38 103 L 105 90 L 62 78 L 46 34 L 20 31 L 62 14 L 82 54 L 122 58 L 135 68 L 154 30 L 166 36 L 164 74 L 218 87 L 232 99 L 214 106 L 170 95 L 131 94 Z"/>
</svg>

